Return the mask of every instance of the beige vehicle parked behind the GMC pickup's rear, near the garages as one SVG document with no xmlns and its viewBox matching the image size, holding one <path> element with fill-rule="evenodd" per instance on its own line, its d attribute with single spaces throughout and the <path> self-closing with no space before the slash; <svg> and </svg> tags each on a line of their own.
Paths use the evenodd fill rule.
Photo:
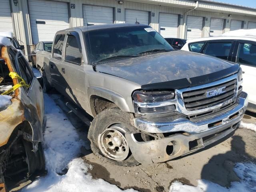
<svg viewBox="0 0 256 192">
<path fill-rule="evenodd" d="M 41 58 L 44 58 L 44 54 L 52 52 L 52 42 L 50 41 L 40 41 L 36 44 L 35 49 L 31 51 L 32 55 L 32 67 L 42 68 Z"/>
</svg>

